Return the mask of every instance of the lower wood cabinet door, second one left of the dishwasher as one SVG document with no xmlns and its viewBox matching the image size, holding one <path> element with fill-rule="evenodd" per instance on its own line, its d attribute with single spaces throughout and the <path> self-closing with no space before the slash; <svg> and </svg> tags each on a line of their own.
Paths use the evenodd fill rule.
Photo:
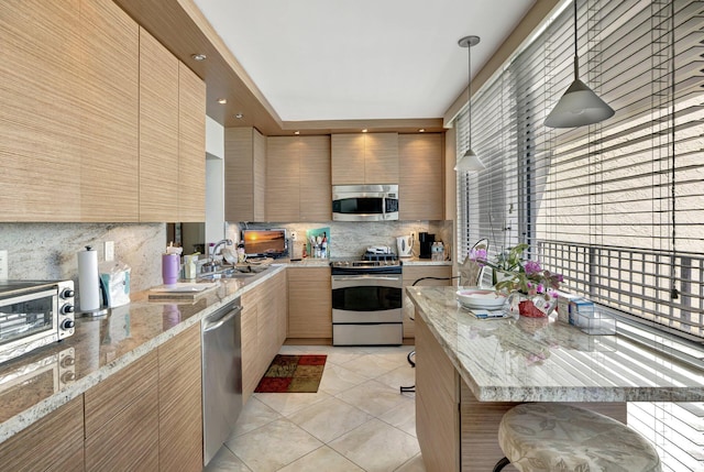
<svg viewBox="0 0 704 472">
<path fill-rule="evenodd" d="M 84 394 L 86 471 L 158 470 L 157 381 L 153 351 Z"/>
</svg>

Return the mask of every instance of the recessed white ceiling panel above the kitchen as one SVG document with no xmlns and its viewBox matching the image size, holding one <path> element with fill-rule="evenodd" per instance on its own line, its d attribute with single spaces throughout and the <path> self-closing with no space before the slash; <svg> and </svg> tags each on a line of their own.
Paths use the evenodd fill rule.
<svg viewBox="0 0 704 472">
<path fill-rule="evenodd" d="M 284 121 L 441 118 L 536 0 L 195 0 Z"/>
</svg>

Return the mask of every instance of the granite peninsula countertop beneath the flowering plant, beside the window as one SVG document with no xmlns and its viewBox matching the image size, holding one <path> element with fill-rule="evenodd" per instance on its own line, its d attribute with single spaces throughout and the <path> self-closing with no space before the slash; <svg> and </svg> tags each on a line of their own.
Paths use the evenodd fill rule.
<svg viewBox="0 0 704 472">
<path fill-rule="evenodd" d="M 654 350 L 552 318 L 481 320 L 458 305 L 457 287 L 406 290 L 479 400 L 704 400 L 704 372 L 669 355 L 666 338 Z"/>
</svg>

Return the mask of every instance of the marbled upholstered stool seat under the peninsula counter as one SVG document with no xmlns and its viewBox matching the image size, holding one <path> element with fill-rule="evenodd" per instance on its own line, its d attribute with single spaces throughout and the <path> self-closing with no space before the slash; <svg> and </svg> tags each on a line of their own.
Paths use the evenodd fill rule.
<svg viewBox="0 0 704 472">
<path fill-rule="evenodd" d="M 512 464 L 521 472 L 660 472 L 652 444 L 623 422 L 559 403 L 528 403 L 504 415 L 498 443 L 506 457 L 494 472 Z"/>
</svg>

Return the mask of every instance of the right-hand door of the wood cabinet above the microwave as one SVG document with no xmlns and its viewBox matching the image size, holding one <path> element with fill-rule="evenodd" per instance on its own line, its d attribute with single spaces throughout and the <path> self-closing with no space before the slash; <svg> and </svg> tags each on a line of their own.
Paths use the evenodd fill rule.
<svg viewBox="0 0 704 472">
<path fill-rule="evenodd" d="M 398 133 L 364 136 L 364 183 L 398 184 Z"/>
</svg>

